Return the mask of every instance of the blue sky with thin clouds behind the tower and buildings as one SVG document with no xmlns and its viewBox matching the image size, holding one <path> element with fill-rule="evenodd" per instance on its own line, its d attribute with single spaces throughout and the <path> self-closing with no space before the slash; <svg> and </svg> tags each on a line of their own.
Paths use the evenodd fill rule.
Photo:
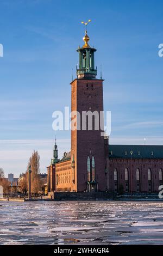
<svg viewBox="0 0 163 256">
<path fill-rule="evenodd" d="M 84 27 L 102 64 L 110 143 L 163 144 L 162 1 L 0 0 L 0 166 L 15 176 L 39 150 L 41 172 L 52 157 L 52 113 L 70 106 Z M 74 72 L 75 76 L 75 72 Z M 98 74 L 99 77 L 99 74 Z M 70 132 L 57 132 L 59 155 Z"/>
</svg>

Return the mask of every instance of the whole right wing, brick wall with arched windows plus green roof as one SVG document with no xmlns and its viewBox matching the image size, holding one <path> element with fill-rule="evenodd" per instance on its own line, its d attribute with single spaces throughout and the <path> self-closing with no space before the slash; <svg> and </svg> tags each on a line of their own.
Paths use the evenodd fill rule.
<svg viewBox="0 0 163 256">
<path fill-rule="evenodd" d="M 162 146 L 109 145 L 108 151 L 106 178 L 109 191 L 159 191 L 159 186 L 163 184 Z"/>
</svg>

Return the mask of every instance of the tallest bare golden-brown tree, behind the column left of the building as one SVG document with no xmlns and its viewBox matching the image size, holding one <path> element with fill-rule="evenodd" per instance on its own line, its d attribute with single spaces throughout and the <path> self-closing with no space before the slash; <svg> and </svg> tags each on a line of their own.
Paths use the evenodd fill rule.
<svg viewBox="0 0 163 256">
<path fill-rule="evenodd" d="M 29 159 L 27 171 L 31 166 L 31 191 L 32 193 L 38 193 L 41 190 L 41 181 L 40 181 L 40 155 L 38 151 L 33 151 L 32 156 Z M 28 176 L 28 175 L 27 175 Z M 28 178 L 27 178 L 28 180 Z M 27 181 L 28 184 L 28 181 Z"/>
</svg>

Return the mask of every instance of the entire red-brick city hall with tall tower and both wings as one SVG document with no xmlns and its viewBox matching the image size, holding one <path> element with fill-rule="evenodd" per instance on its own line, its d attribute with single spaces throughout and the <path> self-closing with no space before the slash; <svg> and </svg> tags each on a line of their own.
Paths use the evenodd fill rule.
<svg viewBox="0 0 163 256">
<path fill-rule="evenodd" d="M 89 45 L 87 30 L 83 40 L 77 50 L 77 78 L 71 82 L 71 112 L 78 111 L 81 117 L 83 111 L 103 111 L 104 81 L 96 78 L 96 49 Z M 81 123 L 78 118 L 76 123 Z M 158 192 L 163 184 L 163 146 L 110 145 L 102 132 L 71 129 L 71 151 L 61 160 L 55 141 L 47 167 L 48 192 Z"/>
</svg>

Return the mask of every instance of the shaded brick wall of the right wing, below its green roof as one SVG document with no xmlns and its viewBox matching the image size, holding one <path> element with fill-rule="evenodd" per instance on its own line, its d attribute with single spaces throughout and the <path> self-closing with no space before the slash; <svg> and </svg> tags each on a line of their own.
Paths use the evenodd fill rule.
<svg viewBox="0 0 163 256">
<path fill-rule="evenodd" d="M 125 180 L 125 169 L 128 170 L 128 180 Z M 151 170 L 151 180 L 148 180 L 148 170 Z M 114 171 L 117 170 L 117 180 Z M 136 170 L 139 170 L 139 180 L 136 180 Z M 158 192 L 162 180 L 159 172 L 163 170 L 162 159 L 110 159 L 109 187 L 110 191 L 118 192 L 123 187 L 124 192 Z"/>
</svg>

